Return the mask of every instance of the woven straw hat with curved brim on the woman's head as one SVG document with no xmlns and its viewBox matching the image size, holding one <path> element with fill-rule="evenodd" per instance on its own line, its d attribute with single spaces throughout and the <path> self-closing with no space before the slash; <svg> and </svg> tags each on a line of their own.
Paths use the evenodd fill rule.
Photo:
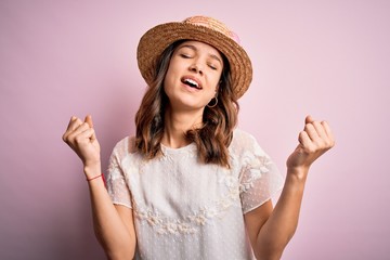
<svg viewBox="0 0 390 260">
<path fill-rule="evenodd" d="M 236 34 L 221 22 L 206 16 L 193 16 L 183 22 L 160 24 L 146 31 L 138 46 L 136 58 L 142 77 L 151 84 L 157 61 L 164 50 L 178 40 L 197 40 L 223 53 L 231 67 L 233 89 L 237 99 L 249 88 L 252 67 L 248 54 L 239 46 Z"/>
</svg>

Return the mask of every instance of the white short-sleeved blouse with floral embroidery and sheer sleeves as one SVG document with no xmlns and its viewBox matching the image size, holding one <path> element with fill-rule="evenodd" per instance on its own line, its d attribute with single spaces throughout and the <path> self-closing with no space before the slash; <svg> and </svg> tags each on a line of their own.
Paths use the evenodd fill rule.
<svg viewBox="0 0 390 260">
<path fill-rule="evenodd" d="M 231 169 L 199 162 L 194 143 L 161 151 L 145 160 L 128 136 L 109 159 L 113 203 L 134 213 L 135 259 L 255 259 L 244 214 L 283 186 L 255 138 L 234 130 Z"/>
</svg>

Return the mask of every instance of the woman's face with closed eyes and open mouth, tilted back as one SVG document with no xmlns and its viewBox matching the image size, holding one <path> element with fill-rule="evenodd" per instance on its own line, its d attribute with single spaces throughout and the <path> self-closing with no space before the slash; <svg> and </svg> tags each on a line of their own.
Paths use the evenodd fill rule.
<svg viewBox="0 0 390 260">
<path fill-rule="evenodd" d="M 184 41 L 173 51 L 164 90 L 173 109 L 204 109 L 217 95 L 223 69 L 219 51 L 199 41 Z"/>
</svg>

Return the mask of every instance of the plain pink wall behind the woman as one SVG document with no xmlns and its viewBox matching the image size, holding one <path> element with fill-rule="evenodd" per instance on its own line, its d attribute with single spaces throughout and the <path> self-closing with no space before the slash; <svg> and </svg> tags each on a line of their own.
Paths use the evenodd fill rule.
<svg viewBox="0 0 390 260">
<path fill-rule="evenodd" d="M 255 68 L 239 126 L 283 172 L 307 114 L 337 138 L 283 259 L 390 258 L 390 1 L 227 2 L 0 2 L 0 259 L 105 259 L 61 136 L 72 115 L 92 114 L 106 168 L 145 90 L 138 40 L 194 14 L 239 35 Z"/>
</svg>

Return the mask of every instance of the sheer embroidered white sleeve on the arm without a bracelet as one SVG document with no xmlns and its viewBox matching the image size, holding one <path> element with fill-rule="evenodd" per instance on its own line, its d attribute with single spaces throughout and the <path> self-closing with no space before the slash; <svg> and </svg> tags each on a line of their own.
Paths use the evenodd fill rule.
<svg viewBox="0 0 390 260">
<path fill-rule="evenodd" d="M 243 136 L 239 143 L 243 145 L 239 195 L 243 213 L 247 213 L 275 197 L 284 178 L 252 135 Z"/>
</svg>

